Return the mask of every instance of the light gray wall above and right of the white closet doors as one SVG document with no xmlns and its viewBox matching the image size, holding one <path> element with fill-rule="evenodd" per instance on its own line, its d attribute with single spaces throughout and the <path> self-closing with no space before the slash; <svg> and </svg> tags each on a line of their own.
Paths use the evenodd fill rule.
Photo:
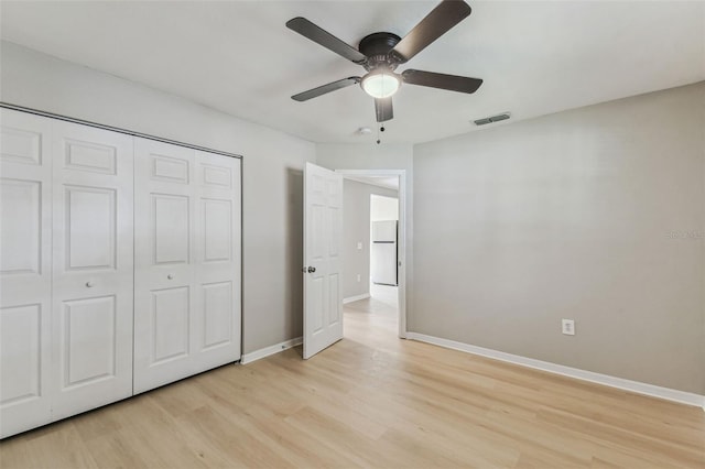
<svg viewBox="0 0 705 469">
<path fill-rule="evenodd" d="M 315 145 L 2 42 L 0 99 L 243 155 L 243 349 L 302 335 L 303 166 Z"/>
</svg>

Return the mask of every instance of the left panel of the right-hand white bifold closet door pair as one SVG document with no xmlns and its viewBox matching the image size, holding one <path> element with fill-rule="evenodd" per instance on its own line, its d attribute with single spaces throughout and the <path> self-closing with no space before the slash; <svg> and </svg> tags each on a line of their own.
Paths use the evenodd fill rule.
<svg viewBox="0 0 705 469">
<path fill-rule="evenodd" d="M 194 374 L 194 151 L 135 139 L 134 392 Z"/>
</svg>

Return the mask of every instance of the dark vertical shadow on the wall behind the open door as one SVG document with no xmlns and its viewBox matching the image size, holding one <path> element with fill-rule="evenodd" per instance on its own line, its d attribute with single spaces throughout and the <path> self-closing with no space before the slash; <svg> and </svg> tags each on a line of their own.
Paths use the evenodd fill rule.
<svg viewBox="0 0 705 469">
<path fill-rule="evenodd" d="M 303 276 L 304 264 L 304 172 L 286 168 L 286 261 L 289 281 L 284 298 L 291 308 L 284 316 L 285 330 L 293 330 L 294 337 L 303 335 Z"/>
</svg>

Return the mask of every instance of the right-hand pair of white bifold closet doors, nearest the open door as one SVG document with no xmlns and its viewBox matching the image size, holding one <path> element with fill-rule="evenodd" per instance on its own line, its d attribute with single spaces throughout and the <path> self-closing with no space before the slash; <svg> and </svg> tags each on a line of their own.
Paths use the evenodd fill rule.
<svg viewBox="0 0 705 469">
<path fill-rule="evenodd" d="M 135 139 L 134 393 L 240 358 L 240 161 Z"/>
</svg>

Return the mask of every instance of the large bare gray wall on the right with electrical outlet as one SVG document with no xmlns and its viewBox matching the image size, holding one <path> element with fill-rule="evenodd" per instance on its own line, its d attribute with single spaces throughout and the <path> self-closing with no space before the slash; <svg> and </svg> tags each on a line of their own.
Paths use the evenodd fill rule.
<svg viewBox="0 0 705 469">
<path fill-rule="evenodd" d="M 701 83 L 417 145 L 409 330 L 704 394 L 704 105 Z"/>
</svg>

